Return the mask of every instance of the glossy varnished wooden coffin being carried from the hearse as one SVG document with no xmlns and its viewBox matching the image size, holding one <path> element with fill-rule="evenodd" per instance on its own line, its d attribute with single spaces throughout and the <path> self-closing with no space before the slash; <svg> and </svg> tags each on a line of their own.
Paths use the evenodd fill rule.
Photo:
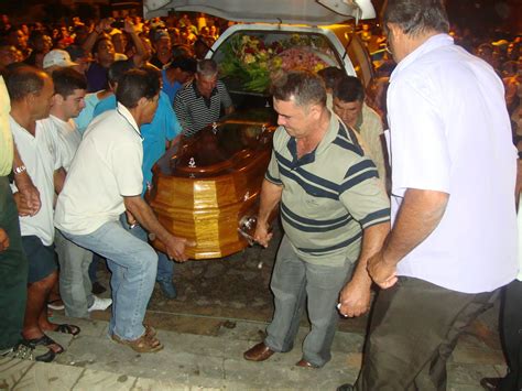
<svg viewBox="0 0 522 391">
<path fill-rule="evenodd" d="M 240 221 L 257 215 L 275 130 L 269 109 L 238 112 L 168 150 L 153 169 L 148 200 L 174 236 L 193 240 L 191 259 L 222 258 L 248 246 Z M 164 250 L 159 240 L 153 241 Z"/>
</svg>

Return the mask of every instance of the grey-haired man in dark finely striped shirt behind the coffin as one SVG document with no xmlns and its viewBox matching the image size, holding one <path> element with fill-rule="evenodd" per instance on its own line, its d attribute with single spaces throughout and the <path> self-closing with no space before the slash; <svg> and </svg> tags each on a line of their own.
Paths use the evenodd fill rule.
<svg viewBox="0 0 522 391">
<path fill-rule="evenodd" d="M 195 79 L 181 88 L 174 98 L 174 111 L 183 128 L 183 134 L 192 137 L 221 116 L 233 111 L 232 100 L 225 84 L 217 79 L 218 68 L 214 59 L 197 64 Z"/>
</svg>

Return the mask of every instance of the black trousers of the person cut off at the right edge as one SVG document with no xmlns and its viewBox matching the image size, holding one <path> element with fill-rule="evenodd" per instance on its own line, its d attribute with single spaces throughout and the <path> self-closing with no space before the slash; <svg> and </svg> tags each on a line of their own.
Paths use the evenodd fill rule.
<svg viewBox="0 0 522 391">
<path fill-rule="evenodd" d="M 500 391 L 522 390 L 522 281 L 514 280 L 504 292 L 501 311 L 502 345 L 508 374 Z"/>
</svg>

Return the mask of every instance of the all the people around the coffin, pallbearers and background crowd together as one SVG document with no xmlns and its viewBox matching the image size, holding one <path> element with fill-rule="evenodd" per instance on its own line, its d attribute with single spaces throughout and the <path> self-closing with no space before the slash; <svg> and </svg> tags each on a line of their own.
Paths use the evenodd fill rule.
<svg viewBox="0 0 522 391">
<path fill-rule="evenodd" d="M 112 340 L 138 352 L 163 348 L 143 322 L 146 306 L 156 281 L 176 297 L 172 261 L 187 261 L 194 243 L 168 232 L 143 195 L 166 148 L 235 109 L 205 59 L 217 25 L 200 14 L 75 19 L 51 30 L 2 17 L 2 352 L 43 346 L 35 359 L 52 361 L 64 348 L 46 333 L 80 333 L 50 321 L 56 286 L 67 316 L 111 306 Z M 518 348 L 505 379 L 483 387 L 520 388 L 520 42 L 472 55 L 455 44 L 438 1 L 389 0 L 382 26 L 396 66 L 369 97 L 335 67 L 273 79 L 279 128 L 254 239 L 269 245 L 276 207 L 284 236 L 273 319 L 244 358 L 291 350 L 306 309 L 312 327 L 297 366 L 320 368 L 339 314 L 373 306 L 359 378 L 339 390 L 444 390 L 458 336 L 508 285 L 502 335 Z M 368 29 L 361 35 L 370 41 Z M 112 298 L 93 294 L 94 258 L 107 260 Z"/>
</svg>

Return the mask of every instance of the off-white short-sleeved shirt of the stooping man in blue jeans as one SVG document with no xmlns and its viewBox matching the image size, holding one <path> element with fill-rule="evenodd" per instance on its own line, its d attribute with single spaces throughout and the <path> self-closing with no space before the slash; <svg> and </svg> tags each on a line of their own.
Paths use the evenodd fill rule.
<svg viewBox="0 0 522 391">
<path fill-rule="evenodd" d="M 117 221 L 124 196 L 141 195 L 143 148 L 140 129 L 121 104 L 93 120 L 58 196 L 55 226 L 89 235 Z"/>
</svg>

